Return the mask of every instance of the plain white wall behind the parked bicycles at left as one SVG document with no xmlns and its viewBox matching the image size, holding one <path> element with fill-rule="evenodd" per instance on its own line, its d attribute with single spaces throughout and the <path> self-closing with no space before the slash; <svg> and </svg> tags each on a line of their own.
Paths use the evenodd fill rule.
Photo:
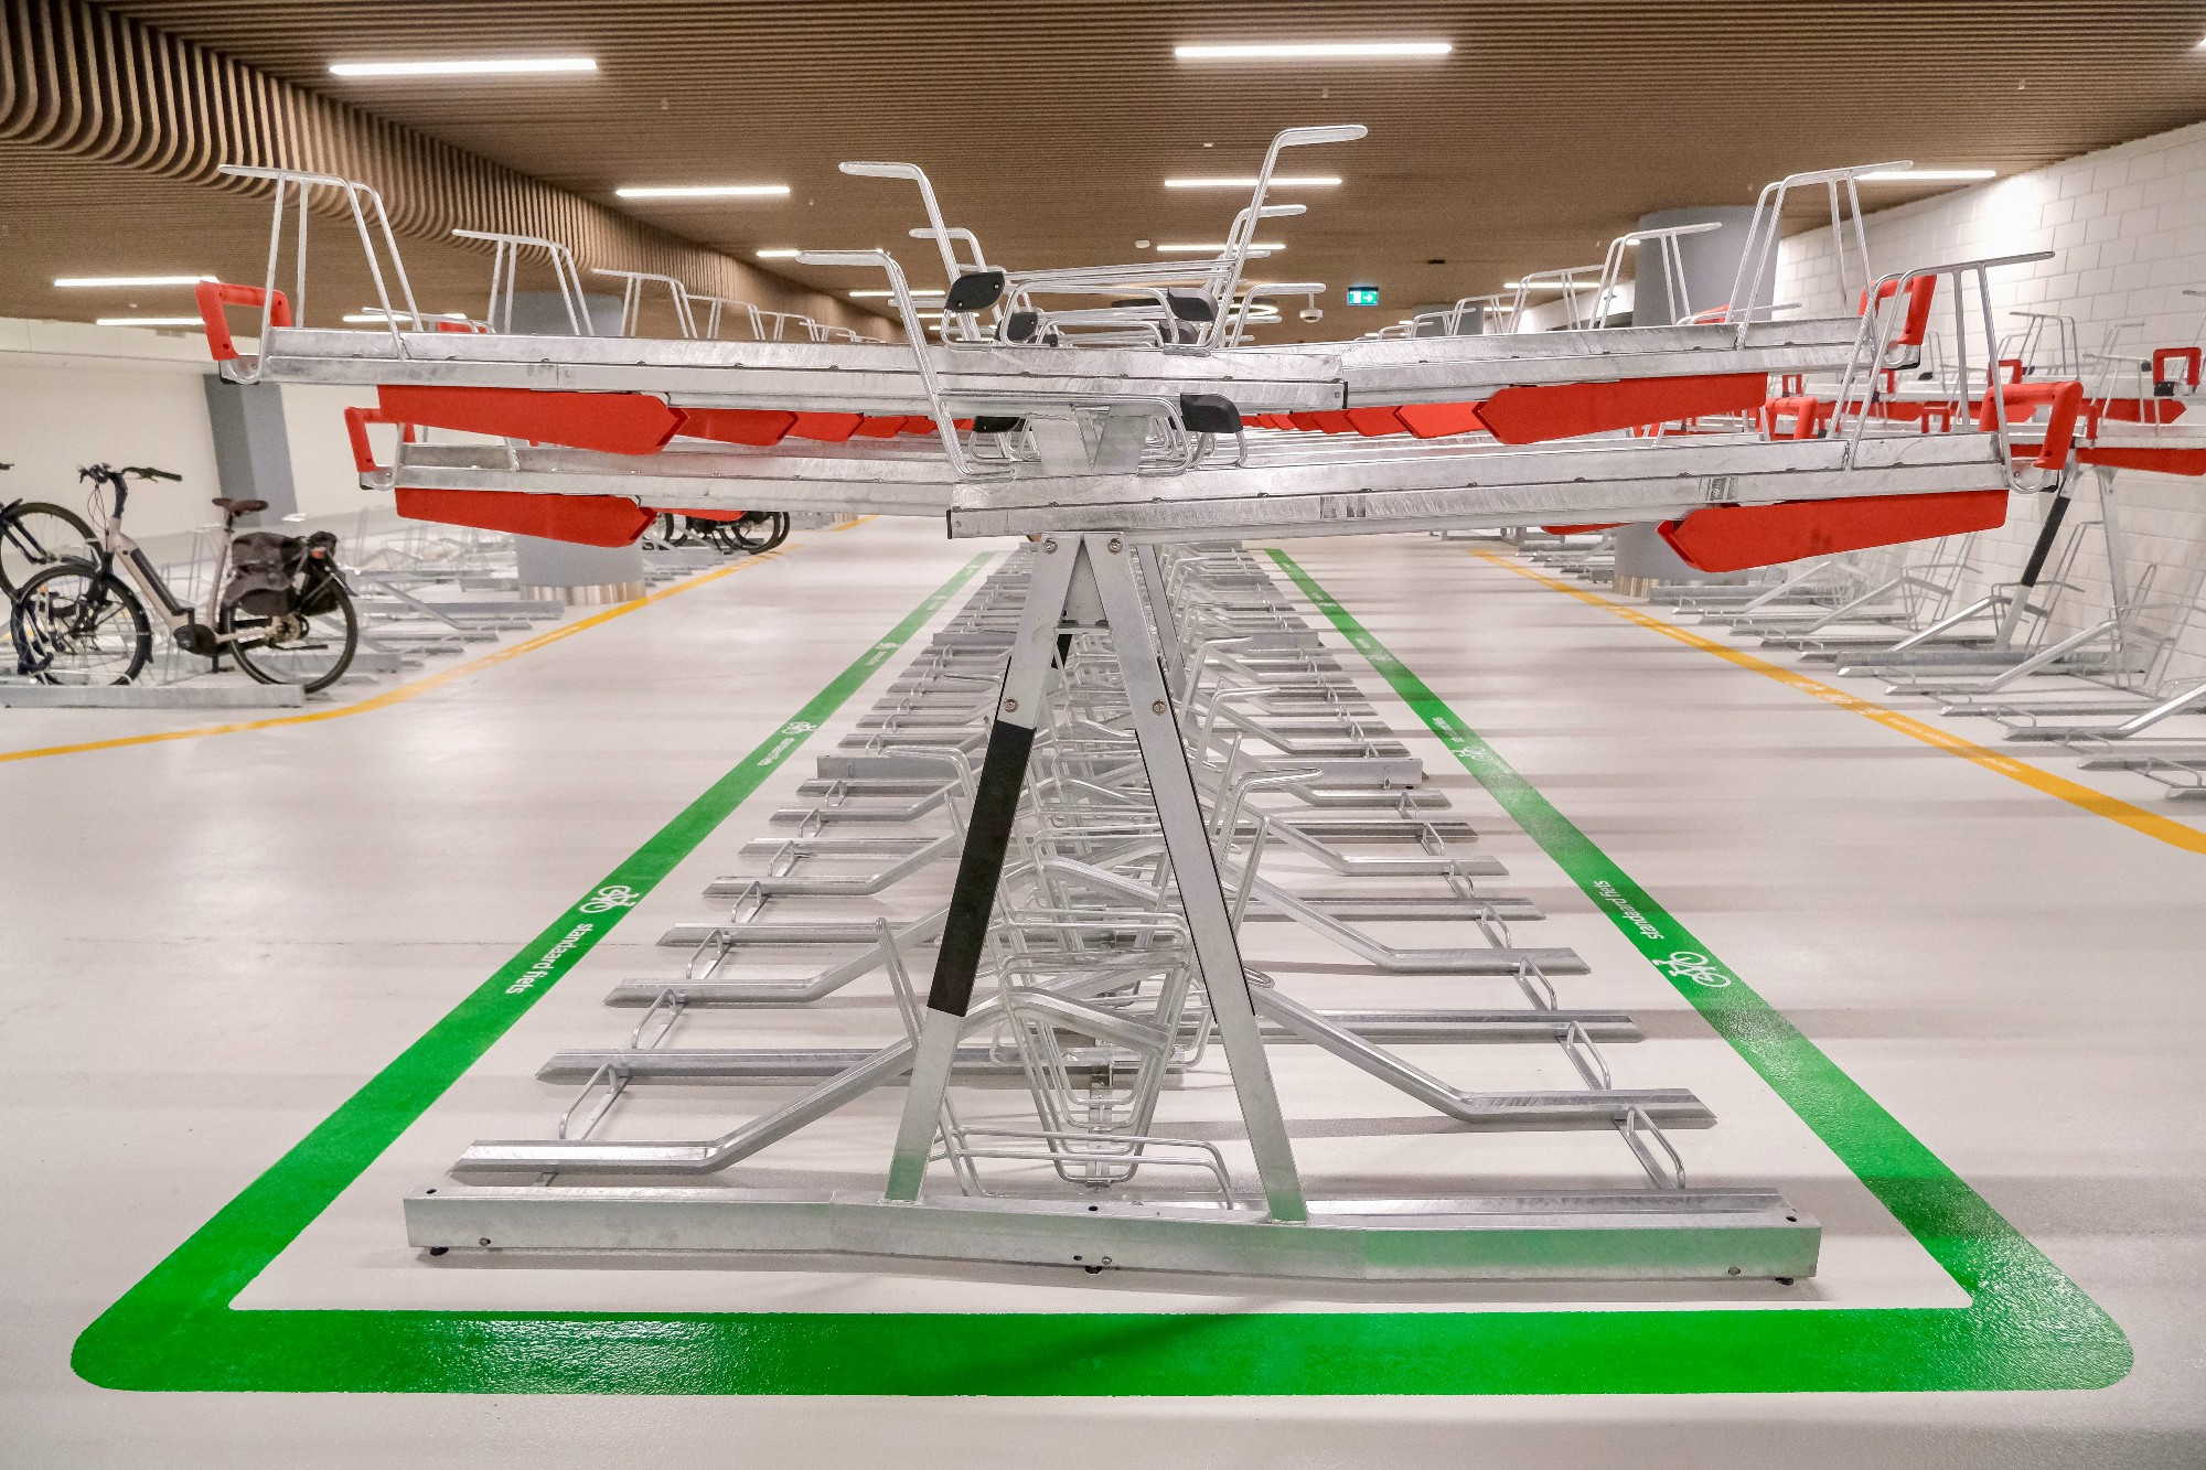
<svg viewBox="0 0 2206 1470">
<path fill-rule="evenodd" d="M 251 342 L 243 347 L 251 351 Z M 0 475 L 0 499 L 82 508 L 77 466 L 150 464 L 183 475 L 183 483 L 135 490 L 130 534 L 159 550 L 163 539 L 210 525 L 218 514 L 207 501 L 221 494 L 201 386 L 210 373 L 196 331 L 0 320 L 0 461 L 15 464 Z M 373 402 L 373 388 L 282 388 L 291 477 L 307 516 L 390 508 L 390 494 L 360 490 L 344 435 L 344 408 Z"/>
</svg>

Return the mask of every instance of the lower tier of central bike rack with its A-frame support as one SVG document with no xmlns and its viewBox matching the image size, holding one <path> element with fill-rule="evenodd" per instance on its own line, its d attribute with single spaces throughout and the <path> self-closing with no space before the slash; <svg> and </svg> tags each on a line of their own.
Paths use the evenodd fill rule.
<svg viewBox="0 0 2206 1470">
<path fill-rule="evenodd" d="M 990 675 L 997 697 L 975 702 L 975 680 Z M 1224 709 L 1255 724 L 1330 722 L 1352 731 L 1359 750 L 1328 755 L 1321 768 L 1295 764 L 1264 753 L 1244 724 L 1211 717 Z M 960 883 L 999 865 L 995 916 L 951 903 L 904 923 L 792 920 L 792 905 L 849 898 L 715 885 L 735 898 L 735 916 L 677 927 L 666 940 L 690 949 L 686 976 L 631 980 L 609 998 L 642 1011 L 629 1044 L 558 1053 L 538 1073 L 580 1088 L 554 1137 L 479 1143 L 454 1170 L 463 1181 L 518 1170 L 547 1183 L 415 1194 L 410 1238 L 596 1254 L 620 1249 L 615 1236 L 629 1232 L 620 1238 L 737 1254 L 1110 1258 L 1341 1280 L 1730 1278 L 1741 1263 L 1747 1276 L 1811 1271 L 1816 1227 L 1798 1210 L 1769 1192 L 1685 1183 L 1663 1132 L 1710 1126 L 1712 1115 L 1685 1090 L 1613 1079 L 1602 1044 L 1628 1044 L 1639 1029 L 1626 1013 L 1560 1004 L 1557 978 L 1584 967 L 1568 951 L 1516 945 L 1511 925 L 1535 909 L 1518 903 L 1516 916 L 1504 914 L 1507 898 L 1476 887 L 1454 852 L 1476 841 L 1465 823 L 1434 817 L 1429 803 L 1399 803 L 1399 792 L 1425 784 L 1403 779 L 1403 759 L 1388 753 L 1390 735 L 1370 711 L 1324 638 L 1238 547 L 1110 534 L 1024 547 L 891 682 L 854 744 L 821 757 L 807 790 L 814 806 L 777 814 L 803 834 L 834 817 L 867 830 L 962 828 Z M 986 748 L 979 768 L 942 744 L 882 739 L 915 713 L 942 735 L 973 726 Z M 1370 775 L 1359 775 L 1366 766 Z M 1396 808 L 1299 814 L 1321 784 L 1392 790 Z M 1363 854 L 1374 843 L 1407 843 L 1418 856 L 1381 856 L 1390 865 L 1374 870 Z M 1496 870 L 1480 863 L 1478 876 Z M 1310 892 L 1315 874 L 1354 892 Z M 1434 969 L 1449 984 L 1500 984 L 1520 1004 L 1319 1011 L 1275 965 L 1242 962 L 1238 934 L 1264 909 L 1321 920 L 1313 934 L 1348 938 L 1343 956 L 1357 954 L 1352 925 L 1366 914 L 1460 925 L 1482 942 L 1425 951 L 1447 956 Z M 827 947 L 836 962 L 779 989 L 730 980 L 739 956 L 790 947 Z M 922 993 L 911 967 L 927 947 L 935 982 Z M 807 1004 L 876 973 L 887 976 L 902 1026 L 871 1051 L 686 1044 L 704 1018 L 730 1006 Z M 1363 973 L 1366 984 L 1385 984 L 1390 971 Z M 1392 1051 L 1403 1042 L 1551 1044 L 1575 1086 L 1467 1090 Z M 1306 1205 L 1268 1046 L 1315 1046 L 1471 1132 L 1615 1132 L 1646 1183 Z M 1176 1137 L 1165 1121 L 1167 1097 L 1198 1073 L 1216 1084 L 1220 1064 L 1249 1150 Z M 609 1119 L 649 1108 L 651 1084 L 666 1082 L 790 1097 L 717 1139 L 598 1137 Z M 904 1121 L 887 1196 L 852 1187 L 794 1199 L 671 1179 L 726 1172 L 893 1084 L 904 1088 Z M 1026 1097 L 1024 1123 L 979 1101 L 1013 1095 Z M 1571 1238 L 1584 1232 L 1584 1249 L 1555 1251 L 1557 1225 L 1571 1225 Z M 1632 1245 L 1619 1251 L 1621 1240 Z"/>
</svg>

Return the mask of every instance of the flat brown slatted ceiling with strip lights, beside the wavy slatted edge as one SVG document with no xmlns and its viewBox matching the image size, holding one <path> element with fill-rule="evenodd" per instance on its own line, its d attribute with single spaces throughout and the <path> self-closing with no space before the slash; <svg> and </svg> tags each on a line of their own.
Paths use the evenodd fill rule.
<svg viewBox="0 0 2206 1470">
<path fill-rule="evenodd" d="M 922 163 L 951 221 L 977 230 L 993 258 L 1101 263 L 1141 258 L 1136 241 L 1220 238 L 1235 196 L 1165 190 L 1165 177 L 1251 172 L 1277 128 L 1361 121 L 1366 141 L 1293 159 L 1346 185 L 1293 194 L 1310 214 L 1277 227 L 1288 252 L 1264 267 L 1335 287 L 1321 335 L 1599 258 L 1648 210 L 1749 203 L 1791 170 L 1910 157 L 2007 174 L 2206 117 L 2206 2 L 2188 0 L 110 9 L 607 203 L 622 183 L 790 183 L 788 201 L 618 203 L 739 256 L 887 245 L 920 283 L 935 283 L 938 267 L 902 238 L 918 223 L 915 192 L 845 179 L 836 161 Z M 1456 49 L 1438 62 L 1176 62 L 1174 42 L 1189 40 Z M 479 55 L 589 55 L 600 73 L 326 75 L 342 60 Z M 0 155 L 0 179 L 4 166 Z M 1921 192 L 1886 188 L 1877 201 Z M 0 210 L 35 203 L 9 196 Z M 225 230 L 221 212 L 234 207 L 148 210 L 146 267 L 192 265 L 194 232 Z M 51 247 L 75 252 L 73 265 L 108 230 L 88 212 L 82 241 Z M 871 285 L 777 269 L 823 287 Z M 1341 307 L 1350 283 L 1377 285 L 1383 307 Z M 1291 316 L 1275 340 L 1293 331 Z"/>
</svg>

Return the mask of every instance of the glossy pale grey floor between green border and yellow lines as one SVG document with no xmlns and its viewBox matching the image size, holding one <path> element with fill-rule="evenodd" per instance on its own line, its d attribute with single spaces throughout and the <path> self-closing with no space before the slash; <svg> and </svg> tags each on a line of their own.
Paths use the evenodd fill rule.
<svg viewBox="0 0 2206 1470">
<path fill-rule="evenodd" d="M 390 709 L 0 764 L 0 1463 L 2206 1463 L 2206 856 L 1460 547 L 1295 554 L 2105 1304 L 2131 1375 L 2096 1393 L 1288 1402 L 137 1395 L 73 1377 L 93 1315 L 971 556 L 876 521 Z M 9 711 L 0 750 L 172 724 Z M 759 830 L 746 808 L 726 837 Z M 1551 887 L 1568 942 L 1613 945 Z"/>
</svg>

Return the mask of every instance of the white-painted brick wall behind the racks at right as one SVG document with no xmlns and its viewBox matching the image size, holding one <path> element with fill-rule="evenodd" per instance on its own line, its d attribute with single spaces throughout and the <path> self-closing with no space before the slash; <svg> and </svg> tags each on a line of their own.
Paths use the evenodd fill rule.
<svg viewBox="0 0 2206 1470">
<path fill-rule="evenodd" d="M 1877 185 L 1862 185 L 1864 194 Z M 2199 342 L 2206 298 L 2206 124 L 2177 128 L 2030 174 L 1996 179 L 1868 216 L 1875 271 L 1941 265 L 1979 256 L 2056 252 L 2052 260 L 1992 276 L 2001 329 L 2010 311 L 2074 316 L 2087 353 L 2116 322 L 2138 322 L 2122 338 L 2124 358 L 2153 347 Z M 1793 236 L 1778 252 L 1780 302 L 1807 316 L 1844 313 L 1831 230 Z M 1943 291 L 1935 320 L 1950 320 Z M 1972 344 L 1972 358 L 1981 347 Z M 2206 404 L 2193 415 L 2206 417 Z M 2206 583 L 2206 479 L 2124 470 L 2116 479 L 2122 558 L 2129 578 L 2151 569 L 2151 596 L 2191 600 Z M 1979 583 L 2012 578 L 2036 539 L 2043 501 L 2016 505 L 2007 525 L 1979 536 Z M 2096 477 L 2085 475 L 2069 521 L 2098 521 Z M 2093 530 L 2074 563 L 2074 589 L 2063 594 L 2058 627 L 2074 629 L 2109 605 L 2105 541 Z M 2206 622 L 2206 616 L 2195 618 Z M 2206 675 L 2206 627 L 2191 627 L 2173 675 Z"/>
</svg>

